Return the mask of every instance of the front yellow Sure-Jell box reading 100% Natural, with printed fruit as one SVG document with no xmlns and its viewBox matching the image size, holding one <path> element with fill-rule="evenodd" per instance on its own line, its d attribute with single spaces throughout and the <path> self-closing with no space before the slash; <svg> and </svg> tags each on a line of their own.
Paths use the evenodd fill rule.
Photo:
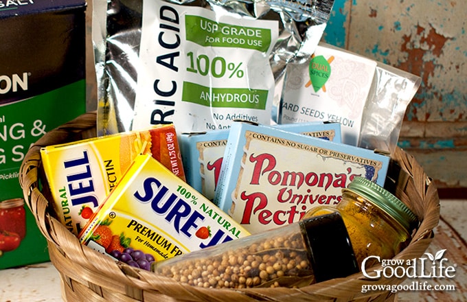
<svg viewBox="0 0 467 302">
<path fill-rule="evenodd" d="M 247 235 L 227 213 L 144 154 L 79 237 L 82 244 L 136 266 L 142 255 L 160 261 Z M 138 266 L 149 270 L 148 257 Z"/>
</svg>

